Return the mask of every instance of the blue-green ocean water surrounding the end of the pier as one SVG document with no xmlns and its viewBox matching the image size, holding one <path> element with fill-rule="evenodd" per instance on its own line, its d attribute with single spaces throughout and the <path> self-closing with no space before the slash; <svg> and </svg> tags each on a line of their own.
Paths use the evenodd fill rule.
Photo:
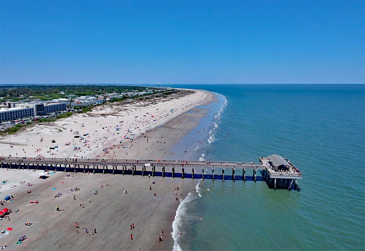
<svg viewBox="0 0 365 251">
<path fill-rule="evenodd" d="M 365 85 L 171 87 L 221 94 L 201 122 L 203 143 L 190 142 L 194 159 L 276 153 L 303 173 L 300 192 L 200 181 L 177 212 L 175 250 L 365 249 Z"/>
</svg>

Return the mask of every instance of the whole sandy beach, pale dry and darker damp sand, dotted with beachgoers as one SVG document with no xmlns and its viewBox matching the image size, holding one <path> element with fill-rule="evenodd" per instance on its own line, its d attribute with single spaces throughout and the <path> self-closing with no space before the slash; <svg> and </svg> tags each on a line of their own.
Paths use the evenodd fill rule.
<svg viewBox="0 0 365 251">
<path fill-rule="evenodd" d="M 1 145 L 1 155 L 171 158 L 170 148 L 188 130 L 195 128 L 206 114 L 204 109 L 196 106 L 213 100 L 213 94 L 196 90 L 193 94 L 163 102 L 153 100 L 130 102 L 122 107 L 116 104 L 97 107 L 89 114 L 37 125 L 2 139 L 28 146 L 10 148 Z M 79 134 L 74 134 L 75 131 Z M 84 134 L 82 140 L 74 138 Z M 51 140 L 56 143 L 52 144 Z M 58 147 L 49 150 L 52 145 Z M 1 210 L 8 208 L 13 212 L 9 214 L 10 220 L 4 218 L 0 221 L 0 231 L 13 229 L 7 231 L 8 234 L 0 234 L 0 246 L 6 245 L 6 250 L 172 250 L 171 223 L 176 209 L 198 182 L 180 178 L 80 173 L 72 173 L 67 178 L 64 172 L 56 172 L 43 180 L 38 179 L 37 173 L 0 170 L 0 180 L 7 180 L 7 183 L 0 184 L 0 200 L 7 195 L 15 198 L 1 206 Z M 22 181 L 25 183 L 20 183 Z M 34 185 L 27 186 L 28 183 Z M 102 188 L 100 184 L 103 184 Z M 71 191 L 75 187 L 80 190 Z M 180 190 L 175 191 L 175 187 Z M 28 190 L 32 192 L 28 194 Z M 97 195 L 94 190 L 98 191 Z M 123 193 L 125 190 L 127 194 Z M 62 195 L 55 197 L 58 193 Z M 30 200 L 39 203 L 30 204 Z M 57 206 L 64 211 L 56 212 Z M 15 210 L 18 211 L 15 213 Z M 32 225 L 25 226 L 27 221 Z M 79 228 L 75 228 L 75 222 Z M 132 223 L 134 229 L 130 230 Z M 94 228 L 96 234 L 92 235 Z M 161 235 L 163 241 L 158 242 L 161 230 L 164 232 Z M 17 246 L 15 243 L 22 235 L 27 239 Z"/>
</svg>

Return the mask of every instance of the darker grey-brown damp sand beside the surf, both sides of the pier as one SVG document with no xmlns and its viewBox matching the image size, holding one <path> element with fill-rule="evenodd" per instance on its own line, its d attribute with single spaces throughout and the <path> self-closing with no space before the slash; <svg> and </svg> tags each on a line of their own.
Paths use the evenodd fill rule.
<svg viewBox="0 0 365 251">
<path fill-rule="evenodd" d="M 214 95 L 207 97 L 199 104 L 214 101 Z M 194 129 L 205 114 L 206 111 L 200 108 L 182 113 L 166 124 L 136 137 L 132 142 L 125 142 L 124 148 L 115 148 L 113 155 L 120 159 L 169 158 L 172 154 L 169 149 L 188 130 Z M 128 155 L 126 152 L 129 152 Z M 37 173 L 30 170 L 0 170 L 1 180 L 8 180 L 8 183 L 0 185 L 0 199 L 3 200 L 7 195 L 15 198 L 0 209 L 19 210 L 9 215 L 10 221 L 0 221 L 1 231 L 13 228 L 8 235 L 0 234 L 1 245 L 8 246 L 6 250 L 172 250 L 172 221 L 179 201 L 184 198 L 184 193 L 187 196 L 188 192 L 194 190 L 198 182 L 167 177 L 80 173 L 71 173 L 72 177 L 66 178 L 64 172 L 56 172 L 48 179 L 41 180 L 37 178 Z M 29 182 L 34 185 L 28 187 L 20 184 L 23 180 L 25 184 Z M 103 188 L 100 188 L 101 183 Z M 109 186 L 106 186 L 107 183 Z M 10 188 L 13 185 L 16 185 L 15 189 Z M 71 192 L 70 189 L 75 186 L 80 191 Z M 152 190 L 149 190 L 149 186 Z M 181 188 L 177 202 L 175 186 Z M 51 190 L 54 187 L 56 189 Z M 32 190 L 31 194 L 26 193 L 29 189 Z M 97 195 L 94 195 L 94 189 L 98 191 Z M 123 193 L 124 190 L 127 190 L 127 194 Z M 54 198 L 58 193 L 62 196 Z M 39 200 L 39 204 L 29 204 L 30 200 Z M 56 206 L 65 211 L 56 212 Z M 26 221 L 33 224 L 24 226 Z M 76 229 L 74 222 L 78 222 L 80 228 Z M 135 228 L 130 230 L 132 223 Z M 85 234 L 85 228 L 88 234 Z M 91 234 L 93 228 L 96 228 L 95 235 Z M 162 229 L 163 241 L 159 243 Z M 133 240 L 130 240 L 130 234 Z M 16 246 L 22 235 L 28 239 Z"/>
</svg>

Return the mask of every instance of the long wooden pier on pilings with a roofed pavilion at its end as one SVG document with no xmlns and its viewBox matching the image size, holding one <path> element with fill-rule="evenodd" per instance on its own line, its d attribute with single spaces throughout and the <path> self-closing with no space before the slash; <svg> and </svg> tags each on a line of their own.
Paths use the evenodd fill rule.
<svg viewBox="0 0 365 251">
<path fill-rule="evenodd" d="M 270 188 L 299 191 L 297 179 L 302 174 L 287 159 L 276 154 L 260 157 L 259 162 L 191 161 L 191 160 L 128 160 L 128 159 L 61 159 L 0 157 L 0 167 L 74 173 L 160 176 L 190 179 L 266 181 Z M 201 170 L 201 173 L 200 173 Z M 216 173 L 214 173 L 216 170 Z M 224 173 L 229 170 L 229 173 Z M 261 171 L 261 177 L 256 173 Z M 219 174 L 219 173 L 221 174 Z M 237 173 L 236 173 L 237 172 Z M 252 174 L 252 175 L 251 175 Z M 289 183 L 290 182 L 290 183 Z"/>
</svg>

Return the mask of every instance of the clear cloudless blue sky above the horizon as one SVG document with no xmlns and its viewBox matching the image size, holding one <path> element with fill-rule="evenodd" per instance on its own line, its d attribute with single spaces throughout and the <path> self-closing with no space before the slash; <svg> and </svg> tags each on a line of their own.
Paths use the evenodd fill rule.
<svg viewBox="0 0 365 251">
<path fill-rule="evenodd" d="M 0 1 L 0 83 L 364 83 L 364 1 Z"/>
</svg>

